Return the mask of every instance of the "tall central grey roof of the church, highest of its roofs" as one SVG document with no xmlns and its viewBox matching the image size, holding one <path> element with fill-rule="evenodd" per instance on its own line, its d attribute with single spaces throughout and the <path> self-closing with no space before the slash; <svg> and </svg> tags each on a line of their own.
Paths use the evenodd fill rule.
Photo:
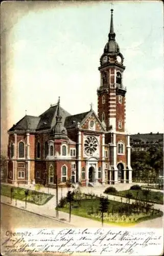
<svg viewBox="0 0 164 256">
<path fill-rule="evenodd" d="M 68 112 L 66 112 L 64 109 L 60 107 L 60 112 L 62 116 L 62 124 L 64 124 L 65 117 L 70 116 Z M 57 104 L 51 106 L 48 110 L 46 110 L 44 113 L 42 113 L 40 117 L 40 121 L 37 125 L 36 130 L 42 130 L 42 129 L 50 129 L 52 128 L 56 123 L 56 116 L 57 116 Z"/>
</svg>

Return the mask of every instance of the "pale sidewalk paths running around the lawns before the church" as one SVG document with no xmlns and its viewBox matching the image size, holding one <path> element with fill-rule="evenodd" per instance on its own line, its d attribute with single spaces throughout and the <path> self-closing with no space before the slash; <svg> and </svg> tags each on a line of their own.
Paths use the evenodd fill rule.
<svg viewBox="0 0 164 256">
<path fill-rule="evenodd" d="M 2 184 L 7 184 L 7 183 L 2 183 Z M 122 185 L 121 187 L 119 186 L 119 188 L 120 188 L 120 190 L 123 190 L 123 185 L 126 185 L 126 187 L 127 187 L 127 188 L 125 188 L 125 186 L 124 186 L 124 189 L 128 189 L 132 184 L 119 184 L 119 185 Z M 96 187 L 96 188 L 82 187 L 81 192 L 82 193 L 95 193 L 96 195 L 100 196 L 100 195 L 103 195 L 103 191 L 108 186 L 109 185 L 104 185 L 102 187 Z M 19 187 L 35 190 L 34 185 L 21 185 Z M 118 184 L 116 184 L 115 187 L 117 187 L 117 189 L 118 189 Z M 68 189 L 67 188 L 62 188 L 62 190 L 61 190 L 61 188 L 59 188 L 58 190 L 59 190 L 58 191 L 58 201 L 59 201 L 61 199 L 61 196 L 62 197 L 66 196 Z M 71 188 L 71 190 L 73 190 L 73 188 Z M 40 191 L 44 192 L 44 193 L 48 193 L 48 188 L 47 187 L 42 187 L 40 189 Z M 34 214 L 41 215 L 43 217 L 48 217 L 48 218 L 52 218 L 52 219 L 55 219 L 55 220 L 58 220 L 58 221 L 69 223 L 68 222 L 69 214 L 67 214 L 66 212 L 59 211 L 59 217 L 56 218 L 56 210 L 55 210 L 55 207 L 56 207 L 56 189 L 49 188 L 49 194 L 54 195 L 54 197 L 48 203 L 40 206 L 40 205 L 36 205 L 36 204 L 32 204 L 32 203 L 27 202 L 27 209 L 26 210 L 28 210 L 30 212 L 33 212 Z M 115 201 L 121 202 L 121 197 L 112 196 L 112 195 L 105 195 L 105 194 L 104 194 L 104 196 L 107 196 L 108 199 L 110 199 L 110 200 L 115 200 Z M 127 200 L 126 198 L 122 198 L 122 202 L 126 202 L 126 200 Z M 135 200 L 131 199 L 130 203 L 132 203 L 134 201 Z M 12 204 L 10 204 L 10 198 L 9 197 L 1 196 L 1 202 L 25 210 L 25 202 L 24 201 L 16 200 L 16 202 L 15 202 L 15 200 L 12 200 Z M 163 211 L 163 205 L 154 204 L 154 208 L 155 209 L 160 209 L 160 210 Z M 83 218 L 83 217 L 76 216 L 76 215 L 71 216 L 71 222 L 69 224 L 71 224 L 74 227 L 79 227 L 79 228 L 80 227 L 81 228 L 85 228 L 85 227 L 86 228 L 87 227 L 99 227 L 99 228 L 101 228 L 101 222 L 90 220 L 90 219 Z M 115 225 L 104 224 L 104 227 L 113 227 L 113 226 L 115 226 Z"/>
</svg>

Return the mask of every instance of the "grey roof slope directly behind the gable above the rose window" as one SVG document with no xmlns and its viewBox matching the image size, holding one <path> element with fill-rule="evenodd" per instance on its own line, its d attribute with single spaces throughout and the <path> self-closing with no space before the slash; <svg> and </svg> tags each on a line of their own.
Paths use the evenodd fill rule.
<svg viewBox="0 0 164 256">
<path fill-rule="evenodd" d="M 90 111 L 88 112 L 84 112 L 84 113 L 80 113 L 80 114 L 77 114 L 77 115 L 73 115 L 73 116 L 67 116 L 65 118 L 65 122 L 64 122 L 64 126 L 66 128 L 70 128 L 70 127 L 75 127 L 77 125 L 77 123 L 81 123 L 82 120 L 86 117 L 86 115 L 89 113 Z"/>
</svg>

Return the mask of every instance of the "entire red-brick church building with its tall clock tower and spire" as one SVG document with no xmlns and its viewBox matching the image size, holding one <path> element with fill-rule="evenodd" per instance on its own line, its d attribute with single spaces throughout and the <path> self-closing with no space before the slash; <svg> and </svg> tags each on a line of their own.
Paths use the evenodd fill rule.
<svg viewBox="0 0 164 256">
<path fill-rule="evenodd" d="M 131 183 L 124 70 L 111 9 L 108 42 L 100 58 L 98 116 L 92 106 L 71 115 L 60 97 L 41 115 L 25 115 L 8 131 L 7 182 L 50 187 L 56 182 L 64 186 L 67 180 L 83 186 Z"/>
</svg>

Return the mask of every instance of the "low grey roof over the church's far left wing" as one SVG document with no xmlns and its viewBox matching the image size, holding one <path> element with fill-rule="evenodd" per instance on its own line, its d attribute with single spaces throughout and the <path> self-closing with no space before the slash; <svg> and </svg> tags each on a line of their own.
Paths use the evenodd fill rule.
<svg viewBox="0 0 164 256">
<path fill-rule="evenodd" d="M 39 123 L 40 117 L 37 116 L 24 116 L 16 124 L 14 124 L 8 132 L 15 130 L 35 131 Z"/>
</svg>

